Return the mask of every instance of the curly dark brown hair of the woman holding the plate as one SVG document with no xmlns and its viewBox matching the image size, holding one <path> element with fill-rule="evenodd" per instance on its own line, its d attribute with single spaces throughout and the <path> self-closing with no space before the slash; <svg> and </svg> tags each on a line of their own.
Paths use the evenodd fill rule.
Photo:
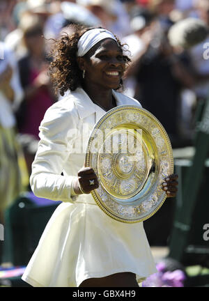
<svg viewBox="0 0 209 301">
<path fill-rule="evenodd" d="M 49 73 L 54 85 L 56 93 L 64 95 L 65 91 L 75 91 L 76 88 L 82 86 L 82 70 L 79 69 L 77 63 L 77 43 L 79 38 L 88 30 L 94 27 L 86 27 L 77 24 L 71 24 L 70 30 L 72 34 L 63 33 L 59 40 L 54 40 L 54 45 L 50 53 L 52 59 L 49 65 Z M 96 27 L 101 28 L 101 27 Z M 123 50 L 123 45 L 118 40 L 119 47 Z M 128 56 L 123 55 L 126 65 L 130 62 Z M 123 82 L 118 88 L 123 86 Z M 118 90 L 117 88 L 117 90 Z"/>
</svg>

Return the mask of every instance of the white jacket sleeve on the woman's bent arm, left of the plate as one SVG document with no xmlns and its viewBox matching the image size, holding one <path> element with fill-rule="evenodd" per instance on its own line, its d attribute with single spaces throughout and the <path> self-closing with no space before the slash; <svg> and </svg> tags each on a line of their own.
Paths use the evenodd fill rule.
<svg viewBox="0 0 209 301">
<path fill-rule="evenodd" d="M 73 202 L 70 190 L 74 176 L 61 172 L 76 139 L 78 118 L 63 107 L 50 107 L 40 123 L 40 141 L 32 164 L 31 189 L 36 196 L 54 201 Z"/>
</svg>

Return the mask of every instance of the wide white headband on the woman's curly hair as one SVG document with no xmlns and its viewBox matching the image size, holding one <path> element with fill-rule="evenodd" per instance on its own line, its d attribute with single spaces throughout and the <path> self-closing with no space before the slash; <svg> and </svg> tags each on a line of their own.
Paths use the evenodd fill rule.
<svg viewBox="0 0 209 301">
<path fill-rule="evenodd" d="M 88 50 L 91 49 L 91 47 L 100 42 L 100 40 L 104 40 L 105 38 L 111 38 L 117 42 L 115 36 L 106 29 L 90 29 L 86 31 L 81 36 L 81 38 L 79 38 L 77 44 L 77 56 L 84 56 L 88 52 Z"/>
</svg>

